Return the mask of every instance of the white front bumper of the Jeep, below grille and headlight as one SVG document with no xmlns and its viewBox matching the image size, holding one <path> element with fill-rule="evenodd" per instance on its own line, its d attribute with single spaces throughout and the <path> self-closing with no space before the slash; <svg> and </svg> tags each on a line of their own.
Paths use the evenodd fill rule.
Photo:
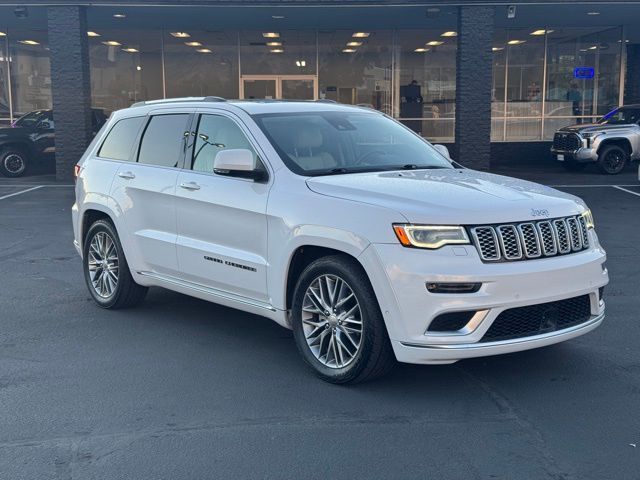
<svg viewBox="0 0 640 480">
<path fill-rule="evenodd" d="M 599 288 L 609 281 L 606 254 L 595 233 L 589 250 L 505 263 L 483 263 L 473 246 L 427 251 L 400 245 L 370 245 L 361 262 L 370 273 L 396 358 L 408 363 L 451 363 L 463 358 L 527 350 L 587 333 L 604 318 Z M 475 293 L 434 294 L 427 283 L 481 283 Z M 507 309 L 589 295 L 591 317 L 575 327 L 481 342 Z M 462 330 L 432 332 L 429 324 L 450 312 L 478 312 Z"/>
</svg>

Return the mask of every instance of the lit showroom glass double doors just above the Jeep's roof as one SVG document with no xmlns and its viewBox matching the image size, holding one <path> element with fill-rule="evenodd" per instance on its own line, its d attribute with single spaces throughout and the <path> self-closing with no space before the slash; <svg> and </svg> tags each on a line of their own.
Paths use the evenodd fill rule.
<svg viewBox="0 0 640 480">
<path fill-rule="evenodd" d="M 243 75 L 240 98 L 316 100 L 318 78 L 315 75 Z"/>
</svg>

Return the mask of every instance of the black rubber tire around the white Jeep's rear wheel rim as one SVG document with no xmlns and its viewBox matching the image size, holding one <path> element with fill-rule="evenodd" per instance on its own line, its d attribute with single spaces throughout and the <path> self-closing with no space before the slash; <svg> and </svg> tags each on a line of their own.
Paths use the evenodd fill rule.
<svg viewBox="0 0 640 480">
<path fill-rule="evenodd" d="M 111 248 L 109 249 L 109 253 L 105 256 L 106 259 L 113 257 L 111 252 L 116 254 L 116 260 L 112 263 L 117 266 L 117 280 L 115 281 L 115 287 L 111 292 L 103 292 L 108 293 L 106 295 L 101 295 L 98 292 L 98 286 L 94 286 L 95 276 L 92 280 L 92 272 L 89 267 L 90 261 L 95 261 L 95 255 L 97 255 L 97 251 L 92 250 L 92 242 L 96 237 L 99 237 L 100 239 L 108 238 L 113 243 L 113 250 Z M 84 279 L 87 284 L 87 288 L 89 289 L 89 294 L 98 306 L 111 309 L 128 308 L 139 304 L 144 299 L 148 289 L 147 287 L 138 285 L 133 280 L 129 270 L 129 265 L 127 264 L 127 259 L 124 255 L 124 251 L 122 250 L 120 238 L 110 221 L 97 220 L 91 225 L 91 227 L 89 227 L 89 231 L 84 239 L 82 258 Z M 100 273 L 100 271 L 104 270 L 105 267 L 102 266 L 97 268 L 96 272 Z M 110 270 L 110 272 L 115 271 L 115 268 Z M 94 275 L 98 275 L 98 273 L 94 272 Z M 109 276 L 109 272 L 104 272 L 104 275 Z"/>
</svg>

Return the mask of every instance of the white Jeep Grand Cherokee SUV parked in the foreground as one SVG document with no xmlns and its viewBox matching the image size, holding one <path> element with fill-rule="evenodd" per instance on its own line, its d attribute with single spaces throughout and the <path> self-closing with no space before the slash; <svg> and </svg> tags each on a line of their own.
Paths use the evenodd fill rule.
<svg viewBox="0 0 640 480">
<path fill-rule="evenodd" d="M 91 296 L 159 286 L 291 328 L 323 379 L 568 340 L 604 318 L 585 204 L 462 168 L 387 116 L 327 102 L 144 102 L 77 168 Z"/>
</svg>

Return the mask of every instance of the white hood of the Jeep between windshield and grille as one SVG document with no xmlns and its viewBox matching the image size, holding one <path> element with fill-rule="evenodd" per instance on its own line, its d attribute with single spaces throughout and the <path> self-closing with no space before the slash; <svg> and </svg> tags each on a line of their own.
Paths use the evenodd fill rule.
<svg viewBox="0 0 640 480">
<path fill-rule="evenodd" d="M 393 209 L 409 222 L 479 225 L 582 213 L 573 195 L 467 169 L 374 172 L 307 179 L 312 191 Z"/>
</svg>

